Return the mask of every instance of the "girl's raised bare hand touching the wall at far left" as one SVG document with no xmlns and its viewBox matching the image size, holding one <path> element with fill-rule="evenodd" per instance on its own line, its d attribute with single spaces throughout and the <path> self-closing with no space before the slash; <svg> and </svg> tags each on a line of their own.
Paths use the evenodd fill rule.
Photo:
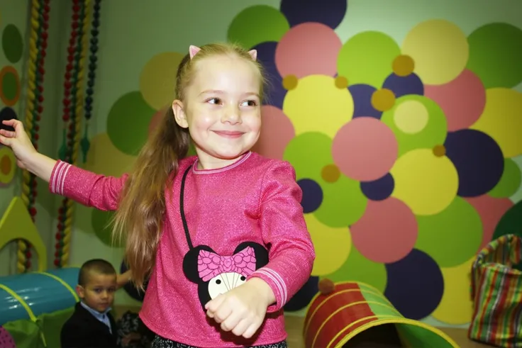
<svg viewBox="0 0 522 348">
<path fill-rule="evenodd" d="M 0 129 L 0 144 L 11 147 L 18 167 L 28 169 L 30 160 L 38 155 L 38 152 L 27 136 L 26 130 L 23 129 L 23 124 L 15 119 L 3 120 L 2 123 L 13 127 L 14 131 Z"/>
</svg>

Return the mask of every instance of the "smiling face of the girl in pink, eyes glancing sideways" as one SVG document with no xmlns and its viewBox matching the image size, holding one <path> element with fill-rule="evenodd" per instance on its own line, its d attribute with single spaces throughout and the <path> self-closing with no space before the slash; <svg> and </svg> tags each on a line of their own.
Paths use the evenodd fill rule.
<svg viewBox="0 0 522 348">
<path fill-rule="evenodd" d="M 177 123 L 189 128 L 200 169 L 225 167 L 255 145 L 261 129 L 260 72 L 240 57 L 200 60 L 186 100 L 174 101 Z"/>
</svg>

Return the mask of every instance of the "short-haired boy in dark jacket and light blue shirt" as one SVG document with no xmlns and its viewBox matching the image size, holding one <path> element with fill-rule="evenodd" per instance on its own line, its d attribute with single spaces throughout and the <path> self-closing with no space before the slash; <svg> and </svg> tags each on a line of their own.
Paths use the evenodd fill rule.
<svg viewBox="0 0 522 348">
<path fill-rule="evenodd" d="M 118 330 L 111 314 L 118 285 L 116 269 L 106 260 L 91 259 L 82 265 L 76 287 L 81 301 L 62 327 L 62 348 L 118 347 Z"/>
</svg>

